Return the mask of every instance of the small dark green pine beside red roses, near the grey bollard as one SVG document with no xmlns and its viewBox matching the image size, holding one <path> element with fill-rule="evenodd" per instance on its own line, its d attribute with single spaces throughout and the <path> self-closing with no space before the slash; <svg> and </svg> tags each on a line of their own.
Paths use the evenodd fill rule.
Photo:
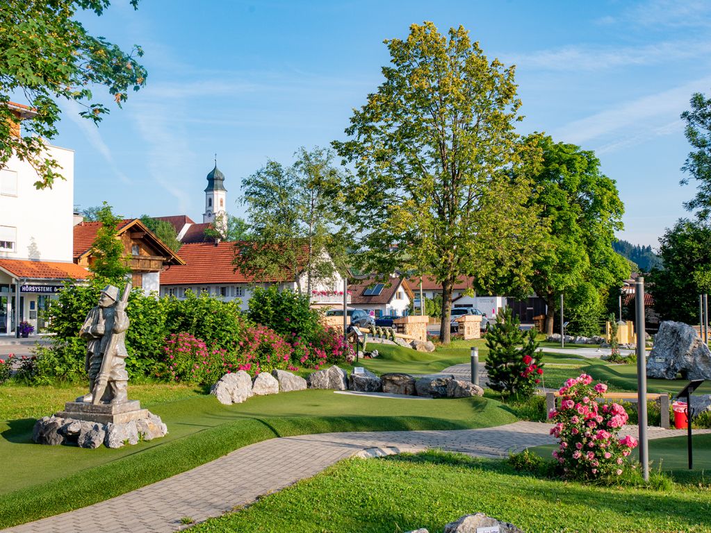
<svg viewBox="0 0 711 533">
<path fill-rule="evenodd" d="M 521 331 L 518 317 L 507 307 L 496 315 L 486 334 L 489 387 L 517 397 L 530 397 L 543 373 L 535 330 Z"/>
</svg>

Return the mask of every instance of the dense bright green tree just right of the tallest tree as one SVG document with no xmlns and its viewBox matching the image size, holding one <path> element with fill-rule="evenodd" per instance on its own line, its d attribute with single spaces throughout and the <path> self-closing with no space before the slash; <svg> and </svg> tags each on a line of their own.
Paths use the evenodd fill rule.
<svg viewBox="0 0 711 533">
<path fill-rule="evenodd" d="M 585 323 L 577 324 L 579 329 L 591 329 L 602 313 L 606 289 L 620 287 L 630 274 L 612 246 L 614 232 L 622 229 L 624 205 L 592 151 L 538 133 L 529 140 L 543 155 L 529 169 L 538 193 L 531 204 L 542 209 L 540 216 L 550 224 L 531 278 L 536 294 L 547 302 L 546 333 L 553 332 L 561 293 L 572 304 L 572 317 Z"/>
</svg>

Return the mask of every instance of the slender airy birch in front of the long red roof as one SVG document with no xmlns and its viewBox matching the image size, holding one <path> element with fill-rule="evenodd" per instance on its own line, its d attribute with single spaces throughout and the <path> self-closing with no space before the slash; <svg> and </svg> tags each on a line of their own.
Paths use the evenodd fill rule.
<svg viewBox="0 0 711 533">
<path fill-rule="evenodd" d="M 235 245 L 235 267 L 257 279 L 290 280 L 311 295 L 336 274 L 324 252 L 341 256 L 338 232 L 341 171 L 333 152 L 300 148 L 293 165 L 276 161 L 242 180 L 249 241 Z M 306 273 L 302 287 L 301 273 Z"/>
</svg>

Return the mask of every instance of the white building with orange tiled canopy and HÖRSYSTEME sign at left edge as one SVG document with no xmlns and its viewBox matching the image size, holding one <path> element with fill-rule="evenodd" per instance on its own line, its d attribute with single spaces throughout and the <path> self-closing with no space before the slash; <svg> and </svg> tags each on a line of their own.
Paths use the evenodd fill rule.
<svg viewBox="0 0 711 533">
<path fill-rule="evenodd" d="M 9 106 L 23 120 L 34 115 L 26 106 Z M 51 189 L 36 189 L 36 171 L 16 157 L 0 169 L 0 334 L 16 334 L 21 321 L 37 331 L 63 282 L 87 277 L 72 261 L 74 152 L 47 149 L 64 177 Z"/>
</svg>

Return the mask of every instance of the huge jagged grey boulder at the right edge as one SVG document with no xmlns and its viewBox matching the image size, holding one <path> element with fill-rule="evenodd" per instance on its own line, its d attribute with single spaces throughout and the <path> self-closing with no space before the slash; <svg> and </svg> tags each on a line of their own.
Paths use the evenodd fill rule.
<svg viewBox="0 0 711 533">
<path fill-rule="evenodd" d="M 711 351 L 696 330 L 681 322 L 662 322 L 647 358 L 647 377 L 673 380 L 711 379 Z"/>
</svg>

